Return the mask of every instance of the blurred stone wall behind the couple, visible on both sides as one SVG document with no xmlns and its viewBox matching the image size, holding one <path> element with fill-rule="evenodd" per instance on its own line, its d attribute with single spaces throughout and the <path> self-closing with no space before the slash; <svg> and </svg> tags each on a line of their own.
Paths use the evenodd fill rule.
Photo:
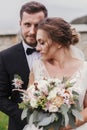
<svg viewBox="0 0 87 130">
<path fill-rule="evenodd" d="M 80 35 L 80 41 L 76 46 L 83 51 L 87 60 L 87 31 L 80 32 Z M 17 44 L 19 41 L 20 36 L 18 33 L 0 34 L 0 51 Z"/>
</svg>

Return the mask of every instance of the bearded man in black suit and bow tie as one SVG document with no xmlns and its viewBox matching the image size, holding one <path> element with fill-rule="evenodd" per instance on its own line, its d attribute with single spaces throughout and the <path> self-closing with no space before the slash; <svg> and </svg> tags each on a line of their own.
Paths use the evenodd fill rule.
<svg viewBox="0 0 87 130">
<path fill-rule="evenodd" d="M 0 52 L 0 111 L 9 116 L 8 130 L 22 130 L 26 120 L 21 120 L 22 110 L 19 92 L 13 92 L 12 80 L 15 74 L 24 81 L 27 88 L 32 62 L 38 58 L 35 52 L 38 23 L 47 17 L 46 7 L 38 2 L 28 2 L 20 10 L 22 42 Z"/>
</svg>

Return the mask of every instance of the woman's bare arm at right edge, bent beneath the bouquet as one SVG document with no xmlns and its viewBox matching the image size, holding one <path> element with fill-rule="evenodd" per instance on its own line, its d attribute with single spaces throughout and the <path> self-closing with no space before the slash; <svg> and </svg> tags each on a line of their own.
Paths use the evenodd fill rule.
<svg viewBox="0 0 87 130">
<path fill-rule="evenodd" d="M 85 94 L 85 98 L 84 98 L 84 109 L 82 110 L 81 115 L 83 117 L 83 121 L 76 119 L 76 127 L 79 127 L 79 126 L 81 126 L 81 125 L 83 125 L 84 123 L 87 122 L 87 92 Z M 60 128 L 60 130 L 71 130 L 71 129 L 72 128 L 71 128 L 70 125 L 68 125 L 65 128 Z"/>
</svg>

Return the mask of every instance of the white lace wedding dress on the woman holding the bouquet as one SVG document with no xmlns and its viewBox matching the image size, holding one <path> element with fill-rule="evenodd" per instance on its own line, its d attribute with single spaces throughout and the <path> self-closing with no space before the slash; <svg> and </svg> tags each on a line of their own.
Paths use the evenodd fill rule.
<svg viewBox="0 0 87 130">
<path fill-rule="evenodd" d="M 36 81 L 43 79 L 44 77 L 53 78 L 50 77 L 44 63 L 41 60 L 37 60 L 33 64 L 33 72 Z M 83 61 L 82 66 L 80 66 L 78 70 L 71 76 L 70 80 L 71 79 L 76 79 L 76 83 L 72 87 L 72 89 L 74 89 L 80 94 L 79 101 L 80 101 L 80 105 L 83 107 L 83 100 L 84 100 L 85 92 L 87 90 L 87 62 L 86 61 Z M 87 130 L 87 123 L 76 128 L 76 130 Z"/>
</svg>

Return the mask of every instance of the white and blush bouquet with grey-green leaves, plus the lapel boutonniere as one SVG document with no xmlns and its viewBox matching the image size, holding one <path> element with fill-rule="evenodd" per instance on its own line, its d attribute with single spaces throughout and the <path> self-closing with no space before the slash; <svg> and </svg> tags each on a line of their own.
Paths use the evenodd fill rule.
<svg viewBox="0 0 87 130">
<path fill-rule="evenodd" d="M 21 88 L 22 83 L 21 78 L 13 80 L 16 90 L 23 95 L 22 119 L 28 120 L 24 130 L 58 130 L 68 124 L 75 128 L 75 119 L 82 120 L 79 94 L 72 89 L 75 80 L 43 79 L 35 81 L 27 90 Z"/>
</svg>

